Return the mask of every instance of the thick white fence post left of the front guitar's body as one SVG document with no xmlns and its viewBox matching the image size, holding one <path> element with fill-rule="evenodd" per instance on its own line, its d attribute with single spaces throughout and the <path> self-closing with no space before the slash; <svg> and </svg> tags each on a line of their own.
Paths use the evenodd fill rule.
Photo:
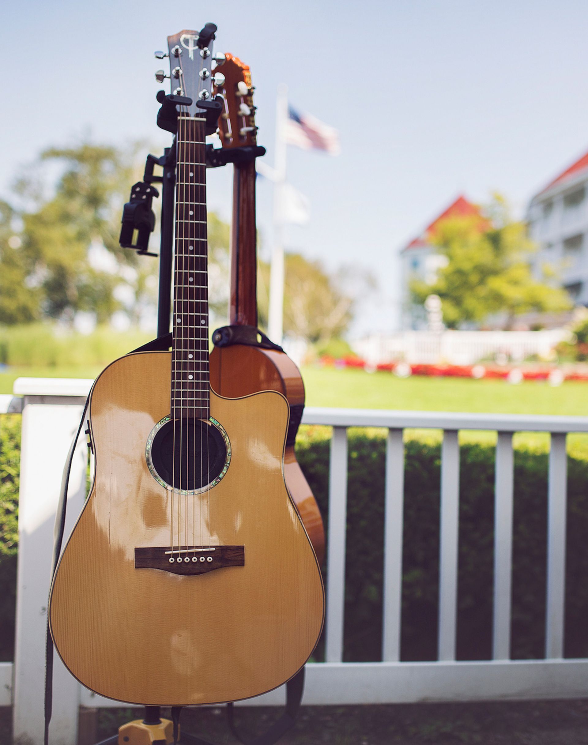
<svg viewBox="0 0 588 745">
<path fill-rule="evenodd" d="M 15 745 L 42 745 L 44 732 L 45 629 L 53 551 L 53 529 L 66 455 L 78 428 L 83 397 L 60 381 L 69 396 L 34 395 L 55 390 L 45 381 L 17 380 L 22 408 L 19 492 L 19 561 L 16 595 L 13 732 Z M 83 381 L 83 387 L 88 387 Z M 86 491 L 86 443 L 80 438 L 69 491 L 66 535 L 80 513 Z M 80 685 L 55 655 L 51 745 L 78 741 Z"/>
</svg>

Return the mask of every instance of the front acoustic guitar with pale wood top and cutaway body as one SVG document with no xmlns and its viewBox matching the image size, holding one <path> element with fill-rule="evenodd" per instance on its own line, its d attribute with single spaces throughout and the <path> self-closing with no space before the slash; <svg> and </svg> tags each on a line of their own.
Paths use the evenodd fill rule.
<svg viewBox="0 0 588 745">
<path fill-rule="evenodd" d="M 209 48 L 168 38 L 177 116 L 174 341 L 98 376 L 95 477 L 51 587 L 51 635 L 83 685 L 137 704 L 256 696 L 294 676 L 323 625 L 317 557 L 284 480 L 289 407 L 209 385 Z M 168 98 L 168 104 L 169 104 Z M 186 101 L 186 99 L 184 99 Z"/>
</svg>

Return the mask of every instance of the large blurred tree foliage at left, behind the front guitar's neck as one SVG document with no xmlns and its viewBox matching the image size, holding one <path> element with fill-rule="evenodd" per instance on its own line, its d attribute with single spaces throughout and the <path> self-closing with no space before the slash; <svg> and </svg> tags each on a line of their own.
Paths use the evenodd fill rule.
<svg viewBox="0 0 588 745">
<path fill-rule="evenodd" d="M 0 203 L 0 323 L 49 318 L 71 324 L 80 311 L 98 323 L 117 311 L 132 324 L 145 311 L 154 316 L 158 262 L 118 244 L 122 208 L 141 178 L 144 151 L 140 143 L 123 149 L 81 142 L 41 153 L 16 184 L 21 208 Z M 158 238 L 152 236 L 152 250 Z M 227 302 L 221 287 L 228 250 L 229 227 L 211 213 L 209 260 L 218 285 L 213 311 Z"/>
</svg>

